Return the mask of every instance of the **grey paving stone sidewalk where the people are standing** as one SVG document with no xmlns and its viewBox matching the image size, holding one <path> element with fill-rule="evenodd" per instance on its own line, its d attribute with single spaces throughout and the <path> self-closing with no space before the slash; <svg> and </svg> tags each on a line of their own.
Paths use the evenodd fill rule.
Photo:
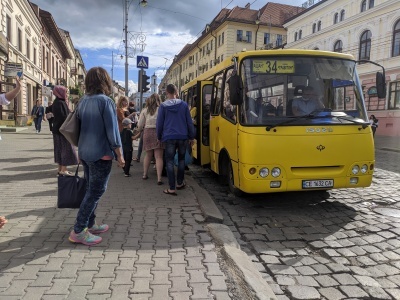
<svg viewBox="0 0 400 300">
<path fill-rule="evenodd" d="M 142 180 L 113 167 L 97 221 L 101 244 L 68 241 L 77 210 L 57 209 L 47 126 L 0 140 L 0 299 L 234 299 L 193 190 L 165 195 L 155 170 Z M 73 171 L 73 168 L 70 168 Z M 83 172 L 81 171 L 82 175 Z"/>
</svg>

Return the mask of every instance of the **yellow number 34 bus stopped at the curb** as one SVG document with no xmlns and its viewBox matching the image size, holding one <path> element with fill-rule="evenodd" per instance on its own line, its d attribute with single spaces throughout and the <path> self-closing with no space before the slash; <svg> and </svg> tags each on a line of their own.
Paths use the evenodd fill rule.
<svg viewBox="0 0 400 300">
<path fill-rule="evenodd" d="M 234 194 L 367 187 L 374 141 L 353 56 L 245 51 L 181 88 L 195 162 Z M 384 97 L 384 70 L 377 90 Z"/>
</svg>

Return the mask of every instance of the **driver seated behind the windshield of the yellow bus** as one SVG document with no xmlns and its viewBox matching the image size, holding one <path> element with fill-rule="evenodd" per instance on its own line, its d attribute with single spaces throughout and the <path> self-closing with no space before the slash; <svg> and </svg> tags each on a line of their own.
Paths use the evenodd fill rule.
<svg viewBox="0 0 400 300">
<path fill-rule="evenodd" d="M 304 116 L 313 111 L 323 109 L 324 107 L 322 102 L 319 101 L 314 88 L 312 86 L 306 86 L 302 96 L 293 99 L 292 112 L 294 116 Z"/>
</svg>

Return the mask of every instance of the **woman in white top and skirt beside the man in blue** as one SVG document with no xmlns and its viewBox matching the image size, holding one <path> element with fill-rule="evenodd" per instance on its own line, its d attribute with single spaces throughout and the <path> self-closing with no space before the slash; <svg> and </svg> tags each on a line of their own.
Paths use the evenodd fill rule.
<svg viewBox="0 0 400 300">
<path fill-rule="evenodd" d="M 163 168 L 164 145 L 157 139 L 156 121 L 158 115 L 158 107 L 161 101 L 158 94 L 153 94 L 146 101 L 146 107 L 140 113 L 138 128 L 143 130 L 143 150 L 146 156 L 143 162 L 143 179 L 148 179 L 150 162 L 153 156 L 156 160 L 157 184 L 161 185 L 161 174 Z"/>
</svg>

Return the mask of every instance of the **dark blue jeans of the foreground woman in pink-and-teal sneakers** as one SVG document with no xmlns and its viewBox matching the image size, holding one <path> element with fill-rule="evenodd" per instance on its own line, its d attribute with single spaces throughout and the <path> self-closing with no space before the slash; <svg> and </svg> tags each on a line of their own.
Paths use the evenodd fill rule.
<svg viewBox="0 0 400 300">
<path fill-rule="evenodd" d="M 112 160 L 81 161 L 85 171 L 86 194 L 76 216 L 75 233 L 81 233 L 85 228 L 90 228 L 95 224 L 96 215 L 94 211 L 107 189 L 112 167 Z"/>
</svg>

